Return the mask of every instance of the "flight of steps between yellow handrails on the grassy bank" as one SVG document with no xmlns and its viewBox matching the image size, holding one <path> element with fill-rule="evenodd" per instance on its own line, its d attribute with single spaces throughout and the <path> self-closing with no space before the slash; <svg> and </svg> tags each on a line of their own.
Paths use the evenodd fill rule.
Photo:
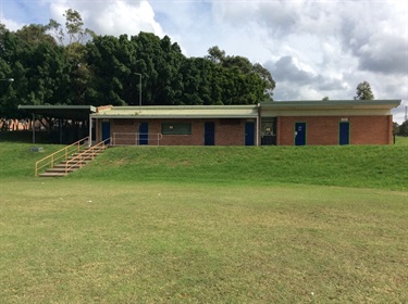
<svg viewBox="0 0 408 304">
<path fill-rule="evenodd" d="M 67 157 L 65 161 L 48 168 L 45 173 L 39 174 L 39 177 L 64 177 L 70 173 L 84 167 L 87 163 L 103 153 L 107 145 L 91 147 Z"/>
</svg>

